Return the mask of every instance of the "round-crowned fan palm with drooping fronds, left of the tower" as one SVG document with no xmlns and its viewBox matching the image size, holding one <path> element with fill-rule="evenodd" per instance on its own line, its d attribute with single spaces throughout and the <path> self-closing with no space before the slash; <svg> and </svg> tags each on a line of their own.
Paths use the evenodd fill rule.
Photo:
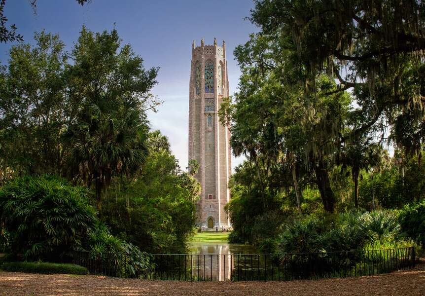
<svg viewBox="0 0 425 296">
<path fill-rule="evenodd" d="M 125 105 L 106 98 L 91 101 L 64 133 L 70 147 L 69 173 L 89 186 L 94 184 L 98 210 L 112 177 L 141 169 L 147 153 L 148 126 L 139 110 Z"/>
</svg>

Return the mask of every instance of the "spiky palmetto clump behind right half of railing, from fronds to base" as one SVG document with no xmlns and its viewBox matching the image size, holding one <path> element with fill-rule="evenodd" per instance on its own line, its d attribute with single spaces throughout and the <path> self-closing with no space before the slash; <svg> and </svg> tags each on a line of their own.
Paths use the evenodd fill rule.
<svg viewBox="0 0 425 296">
<path fill-rule="evenodd" d="M 331 227 L 323 227 L 316 218 L 307 218 L 283 228 L 277 251 L 285 269 L 295 276 L 349 272 L 364 256 L 353 251 L 372 243 L 394 244 L 402 238 L 397 216 L 392 212 L 348 213 L 326 219 L 333 221 Z"/>
</svg>

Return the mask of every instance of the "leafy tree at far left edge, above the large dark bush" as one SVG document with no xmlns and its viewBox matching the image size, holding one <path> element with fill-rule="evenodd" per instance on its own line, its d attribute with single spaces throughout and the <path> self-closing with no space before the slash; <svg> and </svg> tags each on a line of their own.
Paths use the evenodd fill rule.
<svg viewBox="0 0 425 296">
<path fill-rule="evenodd" d="M 0 160 L 4 176 L 60 174 L 59 134 L 77 106 L 65 97 L 65 44 L 35 33 L 35 45 L 18 44 L 0 69 Z M 10 173 L 6 173 L 10 172 Z"/>
</svg>

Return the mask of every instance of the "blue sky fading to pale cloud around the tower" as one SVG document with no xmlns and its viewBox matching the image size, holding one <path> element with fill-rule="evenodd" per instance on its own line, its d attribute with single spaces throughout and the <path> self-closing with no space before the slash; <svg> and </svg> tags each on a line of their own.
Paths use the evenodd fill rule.
<svg viewBox="0 0 425 296">
<path fill-rule="evenodd" d="M 233 50 L 258 32 L 248 20 L 252 0 L 92 0 L 83 6 L 75 0 L 6 0 L 4 15 L 15 24 L 24 42 L 34 43 L 34 32 L 44 29 L 59 34 L 71 50 L 81 26 L 93 32 L 114 26 L 123 43 L 130 43 L 142 56 L 146 68 L 160 67 L 152 93 L 164 103 L 157 113 L 149 112 L 151 129 L 159 129 L 170 141 L 184 169 L 188 162 L 189 79 L 192 41 L 197 46 L 226 41 L 229 91 L 237 91 L 240 70 Z M 0 62 L 7 63 L 10 46 L 0 43 Z M 232 167 L 243 161 L 232 158 Z"/>
</svg>

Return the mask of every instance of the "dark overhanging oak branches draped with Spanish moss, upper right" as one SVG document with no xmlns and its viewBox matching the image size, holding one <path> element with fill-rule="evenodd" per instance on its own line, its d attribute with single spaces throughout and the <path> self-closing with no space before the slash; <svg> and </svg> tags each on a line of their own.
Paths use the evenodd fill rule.
<svg viewBox="0 0 425 296">
<path fill-rule="evenodd" d="M 302 73 L 307 93 L 317 93 L 321 73 L 339 82 L 329 94 L 353 90 L 362 123 L 341 135 L 345 141 L 371 127 L 384 131 L 384 119 L 406 113 L 424 120 L 423 11 L 416 0 L 256 0 L 250 20 L 262 36 L 291 39 L 298 63 L 285 72 Z"/>
</svg>

